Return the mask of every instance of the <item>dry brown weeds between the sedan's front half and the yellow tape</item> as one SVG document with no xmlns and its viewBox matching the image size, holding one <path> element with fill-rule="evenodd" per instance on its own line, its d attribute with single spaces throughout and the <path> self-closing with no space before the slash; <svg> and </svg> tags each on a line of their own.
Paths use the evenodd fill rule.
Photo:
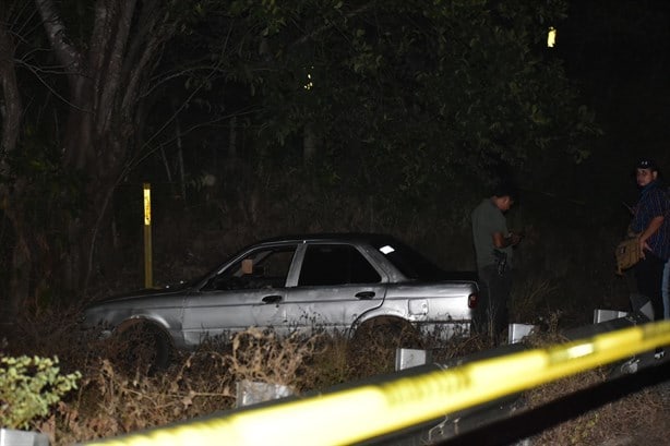
<svg viewBox="0 0 670 446">
<path fill-rule="evenodd" d="M 236 385 L 242 381 L 300 391 L 311 385 L 313 375 L 303 369 L 320 340 L 319 336 L 279 338 L 272 332 L 250 329 L 229 345 L 210 343 L 181 355 L 155 376 L 97 358 L 86 364 L 79 391 L 35 427 L 49 434 L 53 445 L 70 445 L 230 409 Z"/>
</svg>

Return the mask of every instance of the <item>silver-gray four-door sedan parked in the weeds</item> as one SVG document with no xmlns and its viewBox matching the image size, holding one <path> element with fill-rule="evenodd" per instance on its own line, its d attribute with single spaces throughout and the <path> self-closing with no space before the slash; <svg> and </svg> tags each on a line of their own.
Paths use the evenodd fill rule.
<svg viewBox="0 0 670 446">
<path fill-rule="evenodd" d="M 174 348 L 249 327 L 468 334 L 477 300 L 472 276 L 447 274 L 393 237 L 310 234 L 250 245 L 189 284 L 94 302 L 84 326 L 140 332 L 164 366 Z"/>
</svg>

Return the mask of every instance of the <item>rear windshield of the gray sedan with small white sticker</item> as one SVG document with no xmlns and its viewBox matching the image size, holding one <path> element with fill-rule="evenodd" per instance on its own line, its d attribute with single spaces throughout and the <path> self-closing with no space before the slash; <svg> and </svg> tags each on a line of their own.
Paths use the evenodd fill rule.
<svg viewBox="0 0 670 446">
<path fill-rule="evenodd" d="M 395 239 L 380 239 L 374 240 L 372 245 L 410 279 L 442 280 L 447 278 L 444 270 L 403 242 Z"/>
</svg>

